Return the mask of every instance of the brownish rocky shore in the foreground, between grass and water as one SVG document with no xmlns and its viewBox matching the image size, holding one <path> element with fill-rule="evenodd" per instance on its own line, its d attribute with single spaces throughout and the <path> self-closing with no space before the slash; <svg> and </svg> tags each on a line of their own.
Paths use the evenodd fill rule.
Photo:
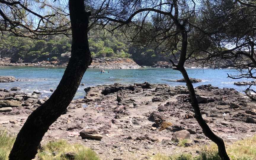
<svg viewBox="0 0 256 160">
<path fill-rule="evenodd" d="M 225 143 L 256 132 L 256 104 L 234 89 L 211 85 L 195 88 L 201 113 Z M 47 97 L 0 90 L 0 124 L 16 135 L 28 115 Z M 10 111 L 11 109 L 11 111 Z M 188 141 L 180 146 L 180 139 Z M 161 151 L 199 153 L 211 143 L 193 117 L 185 86 L 166 84 L 100 85 L 85 88 L 84 99 L 71 102 L 67 112 L 53 123 L 42 143 L 66 139 L 79 142 L 106 160 L 147 159 Z"/>
</svg>

